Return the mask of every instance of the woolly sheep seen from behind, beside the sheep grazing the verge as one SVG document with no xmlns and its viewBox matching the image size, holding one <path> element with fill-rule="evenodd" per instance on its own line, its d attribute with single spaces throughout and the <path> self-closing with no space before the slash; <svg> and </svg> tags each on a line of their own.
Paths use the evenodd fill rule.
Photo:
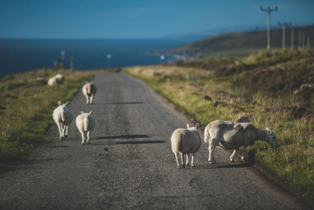
<svg viewBox="0 0 314 210">
<path fill-rule="evenodd" d="M 188 166 L 188 154 L 192 153 L 191 166 L 195 167 L 195 153 L 200 149 L 202 145 L 201 137 L 198 133 L 200 125 L 197 123 L 196 127 L 189 127 L 188 129 L 176 129 L 171 136 L 171 147 L 173 153 L 176 155 L 178 168 L 181 169 L 181 165 L 178 160 L 178 154 L 181 154 L 182 167 L 185 168 L 184 155 L 187 155 L 187 166 Z"/>
</svg>

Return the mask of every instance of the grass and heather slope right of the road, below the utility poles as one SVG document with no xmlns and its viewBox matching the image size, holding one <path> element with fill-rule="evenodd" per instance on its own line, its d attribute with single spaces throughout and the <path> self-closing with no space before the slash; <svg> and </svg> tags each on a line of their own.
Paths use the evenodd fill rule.
<svg viewBox="0 0 314 210">
<path fill-rule="evenodd" d="M 268 125 L 279 147 L 256 142 L 250 153 L 302 196 L 314 198 L 314 89 L 300 90 L 302 84 L 314 83 L 313 52 L 260 52 L 123 70 L 203 126 L 214 120 Z"/>
</svg>

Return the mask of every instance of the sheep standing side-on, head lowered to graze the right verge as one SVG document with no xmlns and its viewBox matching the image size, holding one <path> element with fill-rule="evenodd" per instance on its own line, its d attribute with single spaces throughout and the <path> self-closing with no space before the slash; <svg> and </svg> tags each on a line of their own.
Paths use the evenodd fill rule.
<svg viewBox="0 0 314 210">
<path fill-rule="evenodd" d="M 255 141 L 265 141 L 271 147 L 278 146 L 276 134 L 272 132 L 268 126 L 266 129 L 255 127 L 247 122 L 230 122 L 216 120 L 209 123 L 204 131 L 204 141 L 209 142 L 209 159 L 210 164 L 216 163 L 214 158 L 214 150 L 216 146 L 220 146 L 224 150 L 234 150 L 230 156 L 230 161 L 234 162 L 234 155 L 243 146 L 243 154 L 241 159 L 246 161 L 245 153 L 248 146 L 253 146 Z"/>
</svg>

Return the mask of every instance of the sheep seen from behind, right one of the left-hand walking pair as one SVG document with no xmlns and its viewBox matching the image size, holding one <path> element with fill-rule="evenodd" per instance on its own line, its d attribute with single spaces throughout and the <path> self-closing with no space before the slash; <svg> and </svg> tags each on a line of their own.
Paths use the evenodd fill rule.
<svg viewBox="0 0 314 210">
<path fill-rule="evenodd" d="M 82 134 L 82 145 L 85 145 L 85 133 L 87 132 L 87 144 L 90 143 L 90 132 L 93 131 L 94 126 L 96 124 L 94 118 L 92 117 L 92 112 L 90 113 L 83 113 L 77 116 L 76 118 L 76 126 L 79 129 L 80 133 Z"/>
</svg>

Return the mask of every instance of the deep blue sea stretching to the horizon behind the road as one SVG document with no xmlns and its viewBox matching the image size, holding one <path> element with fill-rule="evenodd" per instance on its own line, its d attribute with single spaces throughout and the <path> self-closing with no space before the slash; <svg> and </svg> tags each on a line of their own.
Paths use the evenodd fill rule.
<svg viewBox="0 0 314 210">
<path fill-rule="evenodd" d="M 108 66 L 107 55 L 111 54 L 110 66 L 160 64 L 159 56 L 147 55 L 154 50 L 171 49 L 187 43 L 184 39 L 0 39 L 0 77 L 42 67 L 53 67 L 65 51 L 67 60 L 75 56 L 74 69 L 88 70 Z M 174 60 L 166 57 L 164 62 Z"/>
</svg>

